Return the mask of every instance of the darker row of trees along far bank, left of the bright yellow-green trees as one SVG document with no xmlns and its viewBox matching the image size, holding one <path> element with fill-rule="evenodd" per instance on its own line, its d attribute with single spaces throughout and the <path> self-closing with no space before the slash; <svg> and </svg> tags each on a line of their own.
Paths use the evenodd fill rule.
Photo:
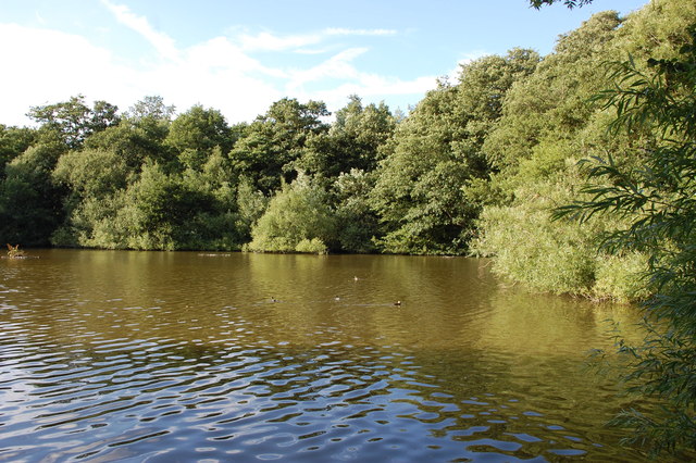
<svg viewBox="0 0 696 463">
<path fill-rule="evenodd" d="M 408 117 L 351 96 L 285 98 L 250 123 L 160 97 L 126 112 L 83 96 L 0 127 L 0 240 L 144 250 L 463 254 L 486 180 L 482 145 L 502 99 L 539 62 L 486 57 Z"/>
</svg>

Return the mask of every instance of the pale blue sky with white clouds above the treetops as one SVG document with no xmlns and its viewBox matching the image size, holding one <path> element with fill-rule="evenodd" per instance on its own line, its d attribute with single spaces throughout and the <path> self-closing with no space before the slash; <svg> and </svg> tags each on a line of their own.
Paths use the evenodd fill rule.
<svg viewBox="0 0 696 463">
<path fill-rule="evenodd" d="M 0 124 L 84 95 L 126 111 L 146 96 L 182 113 L 251 121 L 282 98 L 350 95 L 394 111 L 460 64 L 514 47 L 552 51 L 592 14 L 647 0 L 535 10 L 527 0 L 0 0 Z"/>
</svg>

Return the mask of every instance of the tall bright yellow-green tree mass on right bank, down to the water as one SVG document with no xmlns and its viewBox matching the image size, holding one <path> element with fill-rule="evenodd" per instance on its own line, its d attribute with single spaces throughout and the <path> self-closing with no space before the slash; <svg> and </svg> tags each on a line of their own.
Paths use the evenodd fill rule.
<svg viewBox="0 0 696 463">
<path fill-rule="evenodd" d="M 641 20 L 620 28 L 616 12 L 592 16 L 560 37 L 554 53 L 508 92 L 504 115 L 484 142 L 497 173 L 476 191 L 486 205 L 473 245 L 475 252 L 496 256 L 499 275 L 537 291 L 624 301 L 645 296 L 638 284 L 645 256 L 596 252 L 600 235 L 621 221 L 581 226 L 551 220 L 552 209 L 572 201 L 585 182 L 580 159 L 650 139 L 645 132 L 607 136 L 610 114 L 589 103 L 607 85 L 602 63 L 626 42 L 642 40 Z M 641 160 L 622 155 L 621 162 Z"/>
</svg>

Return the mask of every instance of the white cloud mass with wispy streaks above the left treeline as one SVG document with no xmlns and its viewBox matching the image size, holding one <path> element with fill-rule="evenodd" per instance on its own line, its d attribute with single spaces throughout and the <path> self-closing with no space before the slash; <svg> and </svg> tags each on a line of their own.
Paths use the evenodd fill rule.
<svg viewBox="0 0 696 463">
<path fill-rule="evenodd" d="M 264 113 L 283 97 L 324 100 L 336 110 L 351 93 L 372 100 L 412 95 L 418 100 L 435 85 L 433 77 L 405 82 L 365 73 L 355 61 L 368 53 L 368 48 L 344 46 L 336 52 L 337 46 L 328 42 L 331 37 L 396 34 L 393 30 L 336 28 L 286 37 L 262 33 L 241 39 L 214 37 L 177 48 L 173 38 L 153 28 L 146 17 L 110 0 L 101 1 L 120 24 L 139 34 L 162 59 L 142 64 L 124 60 L 83 36 L 0 24 L 0 42 L 12 43 L 3 51 L 0 123 L 29 124 L 24 117 L 29 107 L 66 101 L 78 93 L 87 100 L 107 100 L 122 110 L 145 96 L 157 95 L 179 111 L 200 103 L 219 109 L 236 123 Z M 327 59 L 313 59 L 314 64 L 294 68 L 264 65 L 251 54 L 253 50 L 277 50 L 319 58 L 316 53 L 332 49 L 334 54 Z M 311 54 L 307 57 L 310 61 Z"/>
</svg>

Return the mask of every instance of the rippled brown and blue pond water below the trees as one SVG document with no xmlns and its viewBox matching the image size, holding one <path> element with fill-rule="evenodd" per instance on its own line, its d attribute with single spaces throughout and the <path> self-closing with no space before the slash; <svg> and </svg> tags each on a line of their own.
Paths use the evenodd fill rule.
<svg viewBox="0 0 696 463">
<path fill-rule="evenodd" d="M 472 259 L 32 254 L 0 260 L 0 460 L 643 460 L 585 368 L 629 308 Z"/>
</svg>

